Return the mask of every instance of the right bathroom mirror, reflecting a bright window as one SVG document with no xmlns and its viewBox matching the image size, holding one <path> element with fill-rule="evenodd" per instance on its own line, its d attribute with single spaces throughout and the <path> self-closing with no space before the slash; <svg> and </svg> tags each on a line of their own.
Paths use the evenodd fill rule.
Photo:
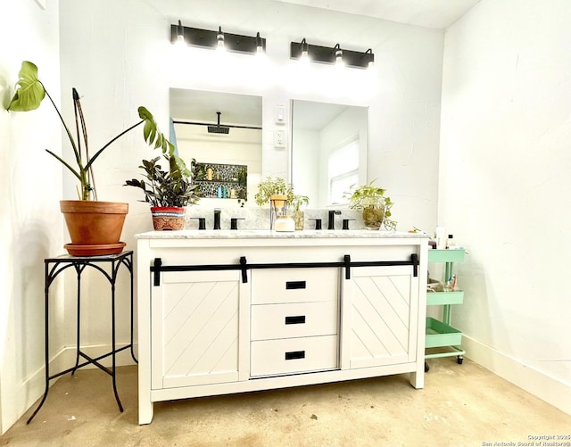
<svg viewBox="0 0 571 447">
<path fill-rule="evenodd" d="M 368 108 L 293 100 L 292 182 L 311 208 L 346 204 L 343 193 L 367 183 Z"/>
</svg>

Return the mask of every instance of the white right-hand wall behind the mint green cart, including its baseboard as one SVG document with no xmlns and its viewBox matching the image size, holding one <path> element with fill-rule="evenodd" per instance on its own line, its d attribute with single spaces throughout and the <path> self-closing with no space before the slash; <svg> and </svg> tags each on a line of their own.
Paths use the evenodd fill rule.
<svg viewBox="0 0 571 447">
<path fill-rule="evenodd" d="M 571 3 L 483 0 L 446 33 L 440 223 L 470 357 L 571 413 Z"/>
</svg>

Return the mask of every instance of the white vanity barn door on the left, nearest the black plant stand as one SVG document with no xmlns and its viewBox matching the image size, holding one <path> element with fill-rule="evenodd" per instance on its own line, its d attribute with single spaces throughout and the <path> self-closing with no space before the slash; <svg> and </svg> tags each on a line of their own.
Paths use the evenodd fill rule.
<svg viewBox="0 0 571 447">
<path fill-rule="evenodd" d="M 238 380 L 240 272 L 163 272 L 153 286 L 152 387 Z"/>
</svg>

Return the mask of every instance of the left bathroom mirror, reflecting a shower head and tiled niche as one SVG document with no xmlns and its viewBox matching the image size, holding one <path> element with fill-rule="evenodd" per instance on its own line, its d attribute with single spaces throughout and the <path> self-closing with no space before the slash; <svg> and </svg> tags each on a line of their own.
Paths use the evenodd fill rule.
<svg viewBox="0 0 571 447">
<path fill-rule="evenodd" d="M 170 141 L 204 198 L 245 199 L 261 179 L 261 96 L 170 88 Z M 173 134 L 174 131 L 174 134 Z"/>
</svg>

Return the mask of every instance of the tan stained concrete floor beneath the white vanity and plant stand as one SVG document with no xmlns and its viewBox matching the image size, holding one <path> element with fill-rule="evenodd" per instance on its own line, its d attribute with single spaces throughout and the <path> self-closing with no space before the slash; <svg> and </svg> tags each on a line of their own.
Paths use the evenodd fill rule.
<svg viewBox="0 0 571 447">
<path fill-rule="evenodd" d="M 160 402 L 148 426 L 137 425 L 137 367 L 119 369 L 123 413 L 111 377 L 84 369 L 58 380 L 29 426 L 35 406 L 0 445 L 457 447 L 571 434 L 571 416 L 468 359 L 429 364 L 424 390 L 393 376 Z"/>
</svg>

